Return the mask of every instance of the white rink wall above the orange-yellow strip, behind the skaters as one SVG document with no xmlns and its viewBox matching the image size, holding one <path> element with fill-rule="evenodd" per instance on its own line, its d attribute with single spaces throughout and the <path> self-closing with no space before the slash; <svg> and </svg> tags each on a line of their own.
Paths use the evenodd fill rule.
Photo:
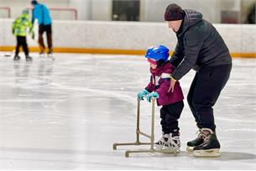
<svg viewBox="0 0 256 171">
<path fill-rule="evenodd" d="M 14 46 L 13 19 L 0 19 L 0 48 Z M 214 24 L 231 53 L 255 53 L 256 25 Z M 36 29 L 36 27 L 35 27 Z M 35 33 L 37 35 L 37 33 Z M 29 46 L 37 44 L 29 39 Z M 175 34 L 167 23 L 54 21 L 53 44 L 59 48 L 147 49 L 152 44 L 175 48 Z"/>
</svg>

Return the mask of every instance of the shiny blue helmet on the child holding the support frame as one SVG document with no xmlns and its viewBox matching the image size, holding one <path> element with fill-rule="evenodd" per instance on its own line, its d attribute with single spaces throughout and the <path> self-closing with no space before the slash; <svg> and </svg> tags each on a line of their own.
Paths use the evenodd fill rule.
<svg viewBox="0 0 256 171">
<path fill-rule="evenodd" d="M 149 47 L 145 54 L 146 58 L 154 59 L 156 61 L 164 60 L 166 62 L 169 57 L 169 49 L 164 45 L 154 45 Z"/>
</svg>

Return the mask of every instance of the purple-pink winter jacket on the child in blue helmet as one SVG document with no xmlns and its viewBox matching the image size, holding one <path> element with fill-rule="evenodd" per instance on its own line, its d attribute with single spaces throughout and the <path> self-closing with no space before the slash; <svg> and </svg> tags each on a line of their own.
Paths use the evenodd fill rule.
<svg viewBox="0 0 256 171">
<path fill-rule="evenodd" d="M 150 68 L 150 82 L 145 89 L 149 92 L 155 91 L 159 94 L 159 98 L 156 99 L 158 106 L 170 105 L 178 101 L 183 101 L 184 99 L 179 81 L 175 83 L 174 92 L 168 92 L 170 88 L 170 76 L 174 70 L 175 67 L 169 61 L 160 65 L 155 70 Z"/>
</svg>

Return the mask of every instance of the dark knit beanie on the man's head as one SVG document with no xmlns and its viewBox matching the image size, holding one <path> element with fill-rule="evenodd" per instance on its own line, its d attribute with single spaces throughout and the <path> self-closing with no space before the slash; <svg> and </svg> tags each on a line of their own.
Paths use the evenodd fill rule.
<svg viewBox="0 0 256 171">
<path fill-rule="evenodd" d="M 165 10 L 165 21 L 174 21 L 183 19 L 185 12 L 179 5 L 170 3 Z"/>
</svg>

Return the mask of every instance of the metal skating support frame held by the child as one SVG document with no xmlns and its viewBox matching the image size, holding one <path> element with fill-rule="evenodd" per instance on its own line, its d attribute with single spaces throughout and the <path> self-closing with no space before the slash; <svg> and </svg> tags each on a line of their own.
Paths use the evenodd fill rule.
<svg viewBox="0 0 256 171">
<path fill-rule="evenodd" d="M 138 150 L 127 150 L 125 152 L 125 157 L 129 157 L 129 153 L 175 153 L 175 156 L 177 153 L 179 153 L 178 149 L 155 149 L 154 148 L 154 103 L 155 99 L 151 99 L 151 135 L 148 135 L 144 132 L 141 132 L 139 129 L 139 115 L 140 115 L 140 101 L 138 99 L 137 102 L 137 128 L 136 128 L 136 141 L 135 142 L 127 142 L 127 143 L 113 143 L 113 149 L 116 150 L 118 146 L 129 146 L 129 145 L 150 145 L 149 149 L 138 149 Z M 149 137 L 150 142 L 140 142 L 139 141 L 139 135 L 142 135 L 144 137 Z"/>
</svg>

